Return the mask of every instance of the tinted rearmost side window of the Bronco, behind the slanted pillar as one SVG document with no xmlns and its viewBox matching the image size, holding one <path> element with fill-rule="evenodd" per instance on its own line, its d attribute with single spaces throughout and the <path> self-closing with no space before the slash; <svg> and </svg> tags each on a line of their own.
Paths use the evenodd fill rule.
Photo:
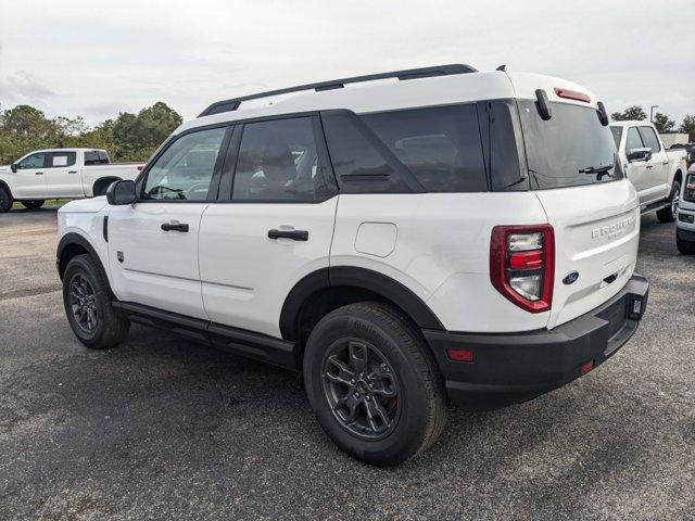
<svg viewBox="0 0 695 521">
<path fill-rule="evenodd" d="M 362 119 L 428 192 L 488 190 L 475 105 L 365 114 Z"/>
</svg>

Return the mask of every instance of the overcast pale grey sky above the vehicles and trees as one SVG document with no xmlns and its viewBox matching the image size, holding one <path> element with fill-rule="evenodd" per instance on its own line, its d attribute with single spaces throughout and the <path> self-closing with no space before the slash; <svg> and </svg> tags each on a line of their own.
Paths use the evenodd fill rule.
<svg viewBox="0 0 695 521">
<path fill-rule="evenodd" d="M 695 114 L 695 5 L 659 1 L 0 0 L 0 106 L 94 124 L 397 68 L 468 63 L 578 81 L 608 112 Z"/>
</svg>

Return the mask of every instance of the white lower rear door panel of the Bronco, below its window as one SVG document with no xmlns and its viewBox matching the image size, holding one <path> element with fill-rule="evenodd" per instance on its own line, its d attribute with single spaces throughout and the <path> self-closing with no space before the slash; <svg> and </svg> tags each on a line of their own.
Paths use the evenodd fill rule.
<svg viewBox="0 0 695 521">
<path fill-rule="evenodd" d="M 207 207 L 201 223 L 200 275 L 214 322 L 280 336 L 282 304 L 296 282 L 328 267 L 338 196 L 323 203 Z M 305 230 L 306 241 L 268 231 Z"/>
</svg>

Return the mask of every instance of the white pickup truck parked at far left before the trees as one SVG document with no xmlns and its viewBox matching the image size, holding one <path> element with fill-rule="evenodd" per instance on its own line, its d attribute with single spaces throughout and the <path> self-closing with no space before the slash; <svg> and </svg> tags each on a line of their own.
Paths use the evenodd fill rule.
<svg viewBox="0 0 695 521">
<path fill-rule="evenodd" d="M 0 213 L 14 201 L 27 208 L 47 199 L 103 195 L 113 181 L 135 179 L 143 163 L 111 163 L 105 150 L 36 150 L 10 166 L 0 166 Z"/>
</svg>

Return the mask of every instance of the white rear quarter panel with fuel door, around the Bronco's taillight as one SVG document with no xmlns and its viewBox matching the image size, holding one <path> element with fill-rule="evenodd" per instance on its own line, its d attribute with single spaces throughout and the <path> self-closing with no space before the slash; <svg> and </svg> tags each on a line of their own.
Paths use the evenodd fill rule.
<svg viewBox="0 0 695 521">
<path fill-rule="evenodd" d="M 330 265 L 401 282 L 450 331 L 541 329 L 548 313 L 527 313 L 492 287 L 490 238 L 497 225 L 545 223 L 532 192 L 341 194 Z"/>
</svg>

